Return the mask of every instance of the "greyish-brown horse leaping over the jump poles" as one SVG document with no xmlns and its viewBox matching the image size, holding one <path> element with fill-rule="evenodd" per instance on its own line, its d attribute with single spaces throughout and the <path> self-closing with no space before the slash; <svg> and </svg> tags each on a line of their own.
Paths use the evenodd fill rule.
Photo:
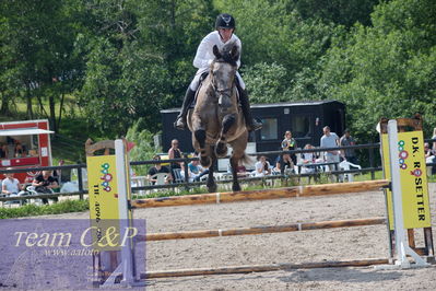
<svg viewBox="0 0 436 291">
<path fill-rule="evenodd" d="M 251 162 L 245 153 L 248 130 L 237 98 L 236 60 L 239 58 L 239 51 L 235 45 L 224 47 L 222 51 L 214 46 L 213 55 L 215 59 L 197 93 L 196 105 L 188 112 L 188 128 L 192 132 L 192 146 L 200 153 L 201 165 L 209 168 L 209 193 L 216 191 L 213 165 L 217 158 L 227 155 L 227 143 L 233 149 L 232 189 L 239 191 L 236 172 L 238 163 Z"/>
</svg>

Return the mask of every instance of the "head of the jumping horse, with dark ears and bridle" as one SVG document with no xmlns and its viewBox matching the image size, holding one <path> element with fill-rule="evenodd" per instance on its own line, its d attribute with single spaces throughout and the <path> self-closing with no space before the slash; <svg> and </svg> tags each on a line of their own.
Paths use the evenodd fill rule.
<svg viewBox="0 0 436 291">
<path fill-rule="evenodd" d="M 232 95 L 236 77 L 239 51 L 237 46 L 232 49 L 220 51 L 216 46 L 213 47 L 215 60 L 211 65 L 212 86 L 215 95 L 219 97 L 219 104 L 224 107 L 232 106 Z"/>
</svg>

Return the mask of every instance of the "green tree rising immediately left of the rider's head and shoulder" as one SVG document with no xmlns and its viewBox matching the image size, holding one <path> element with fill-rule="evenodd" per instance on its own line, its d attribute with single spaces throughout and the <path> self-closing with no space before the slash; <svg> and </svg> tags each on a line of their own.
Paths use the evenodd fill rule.
<svg viewBox="0 0 436 291">
<path fill-rule="evenodd" d="M 214 27 L 217 12 L 212 0 L 150 0 L 138 5 L 139 30 L 152 53 L 163 57 L 169 73 L 172 98 L 165 105 L 179 106 L 193 78 L 192 60 L 202 37 Z"/>
</svg>

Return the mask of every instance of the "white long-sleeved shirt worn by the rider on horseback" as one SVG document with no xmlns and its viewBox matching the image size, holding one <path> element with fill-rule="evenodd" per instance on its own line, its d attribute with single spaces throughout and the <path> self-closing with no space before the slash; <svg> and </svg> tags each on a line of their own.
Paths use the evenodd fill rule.
<svg viewBox="0 0 436 291">
<path fill-rule="evenodd" d="M 208 34 L 203 40 L 201 40 L 199 47 L 197 48 L 196 57 L 193 58 L 193 67 L 198 68 L 197 74 L 201 74 L 209 70 L 209 66 L 212 63 L 215 56 L 213 55 L 213 46 L 216 45 L 217 48 L 221 50 L 226 44 L 233 43 L 238 46 L 239 48 L 239 59 L 236 61 L 237 67 L 240 66 L 240 51 L 243 45 L 240 43 L 239 37 L 235 34 L 232 35 L 231 39 L 226 43 L 223 43 L 221 36 L 217 31 L 211 32 Z"/>
</svg>

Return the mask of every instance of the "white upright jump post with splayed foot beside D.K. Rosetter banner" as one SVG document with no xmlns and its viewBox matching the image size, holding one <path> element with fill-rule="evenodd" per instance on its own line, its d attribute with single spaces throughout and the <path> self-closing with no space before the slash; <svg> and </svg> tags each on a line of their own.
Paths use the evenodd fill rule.
<svg viewBox="0 0 436 291">
<path fill-rule="evenodd" d="M 392 205 L 393 205 L 393 223 L 397 260 L 396 265 L 400 268 L 425 267 L 428 266 L 422 257 L 420 257 L 410 246 L 409 240 L 405 236 L 402 193 L 401 193 L 401 177 L 399 166 L 399 150 L 398 150 L 398 129 L 397 120 L 388 121 L 388 139 L 389 139 L 389 160 L 391 173 L 392 187 Z M 410 255 L 415 260 L 411 265 L 406 255 Z"/>
</svg>

